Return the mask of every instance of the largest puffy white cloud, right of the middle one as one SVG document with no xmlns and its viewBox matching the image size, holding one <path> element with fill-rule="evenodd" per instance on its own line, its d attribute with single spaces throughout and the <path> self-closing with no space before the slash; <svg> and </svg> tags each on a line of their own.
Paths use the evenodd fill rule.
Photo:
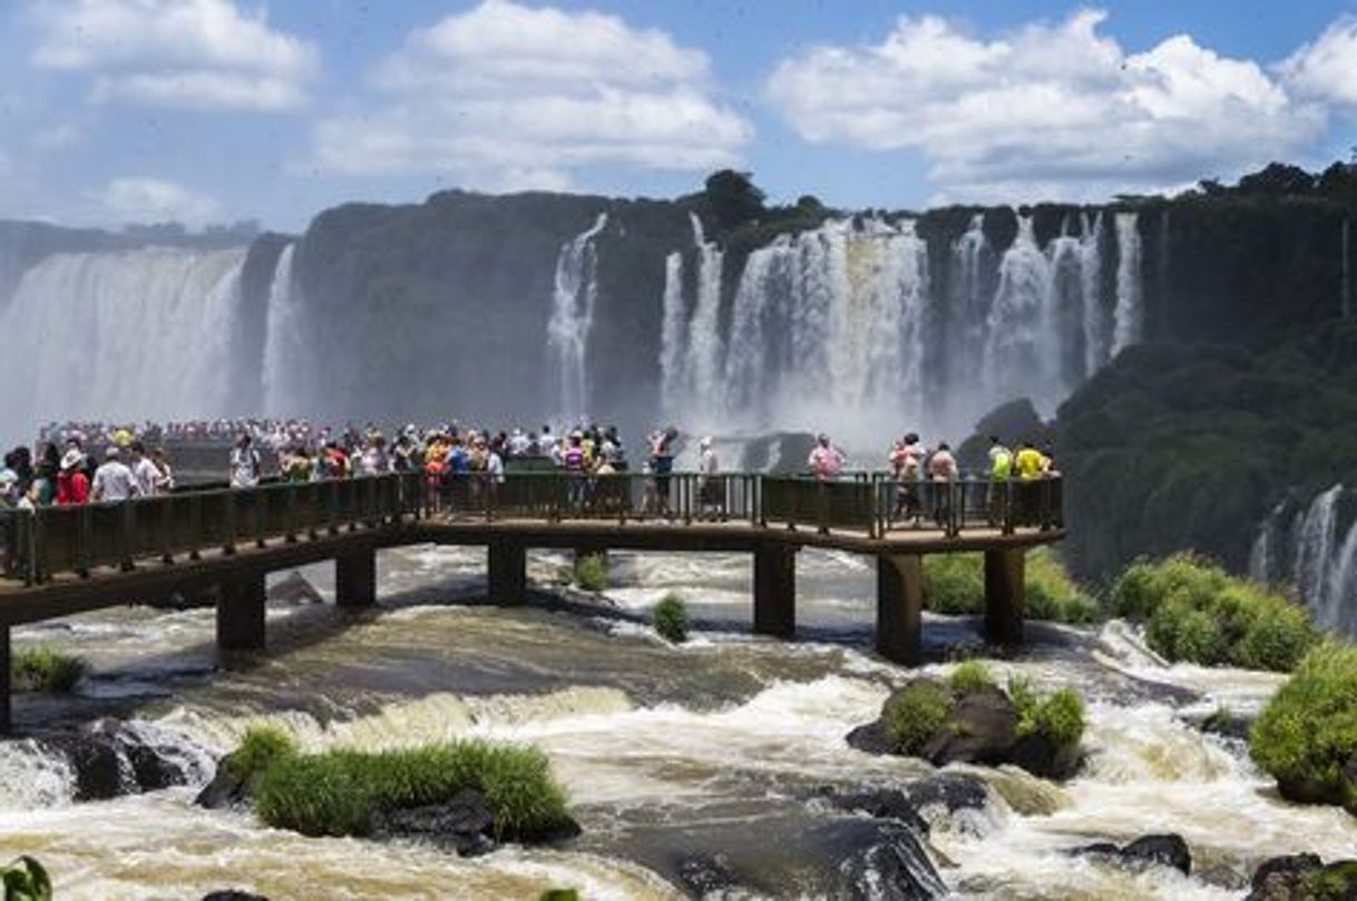
<svg viewBox="0 0 1357 901">
<path fill-rule="evenodd" d="M 1187 35 L 1126 53 L 1082 9 L 984 39 L 936 16 L 901 16 L 874 46 L 821 46 L 769 77 L 772 104 L 806 140 L 931 161 L 940 199 L 1098 197 L 1286 156 L 1318 137 L 1299 103 L 1250 60 Z"/>
</svg>

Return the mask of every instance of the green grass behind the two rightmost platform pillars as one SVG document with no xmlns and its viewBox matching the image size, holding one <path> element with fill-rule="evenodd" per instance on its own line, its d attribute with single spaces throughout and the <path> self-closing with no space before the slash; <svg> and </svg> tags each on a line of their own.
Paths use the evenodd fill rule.
<svg viewBox="0 0 1357 901">
<path fill-rule="evenodd" d="M 982 554 L 927 555 L 923 569 L 925 609 L 949 616 L 984 613 Z M 1049 551 L 1029 554 L 1023 570 L 1025 613 L 1029 617 L 1057 623 L 1095 623 L 1102 619 L 1098 601 L 1075 585 Z"/>
</svg>

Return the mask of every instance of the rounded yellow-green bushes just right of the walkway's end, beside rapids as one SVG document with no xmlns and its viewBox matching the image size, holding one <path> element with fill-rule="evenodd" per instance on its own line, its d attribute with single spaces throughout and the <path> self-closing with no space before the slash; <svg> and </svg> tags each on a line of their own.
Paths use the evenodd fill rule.
<svg viewBox="0 0 1357 901">
<path fill-rule="evenodd" d="M 1305 608 L 1187 554 L 1132 563 L 1113 605 L 1171 661 L 1288 672 L 1319 640 Z"/>
</svg>

